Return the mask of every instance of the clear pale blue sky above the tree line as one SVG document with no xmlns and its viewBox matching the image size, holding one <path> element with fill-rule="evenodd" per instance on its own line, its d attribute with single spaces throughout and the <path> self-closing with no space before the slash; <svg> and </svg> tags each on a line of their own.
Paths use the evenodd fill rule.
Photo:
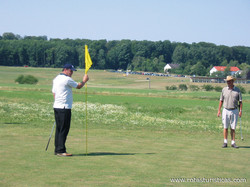
<svg viewBox="0 0 250 187">
<path fill-rule="evenodd" d="M 0 0 L 0 35 L 250 47 L 250 0 Z"/>
</svg>

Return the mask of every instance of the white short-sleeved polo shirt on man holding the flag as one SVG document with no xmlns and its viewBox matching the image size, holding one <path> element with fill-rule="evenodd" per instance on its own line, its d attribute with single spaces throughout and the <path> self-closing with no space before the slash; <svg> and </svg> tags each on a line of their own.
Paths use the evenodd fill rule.
<svg viewBox="0 0 250 187">
<path fill-rule="evenodd" d="M 71 77 L 61 73 L 53 80 L 52 93 L 55 94 L 53 108 L 71 109 L 73 103 L 72 88 L 78 85 Z"/>
</svg>

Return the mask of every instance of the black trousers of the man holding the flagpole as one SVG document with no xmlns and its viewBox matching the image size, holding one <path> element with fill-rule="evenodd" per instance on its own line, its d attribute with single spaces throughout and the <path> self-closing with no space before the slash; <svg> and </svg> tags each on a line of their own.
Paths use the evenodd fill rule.
<svg viewBox="0 0 250 187">
<path fill-rule="evenodd" d="M 70 129 L 71 109 L 54 108 L 56 120 L 55 153 L 65 153 L 65 142 Z"/>
</svg>

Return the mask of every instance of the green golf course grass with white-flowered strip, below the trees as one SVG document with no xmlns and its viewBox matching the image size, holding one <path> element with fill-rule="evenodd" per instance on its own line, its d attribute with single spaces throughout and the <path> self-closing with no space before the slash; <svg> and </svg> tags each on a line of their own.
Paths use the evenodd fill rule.
<svg viewBox="0 0 250 187">
<path fill-rule="evenodd" d="M 244 141 L 238 123 L 240 148 L 222 149 L 219 92 L 167 91 L 192 84 L 169 77 L 150 77 L 148 89 L 146 76 L 90 70 L 88 155 L 83 88 L 74 90 L 66 144 L 73 156 L 63 158 L 53 155 L 54 138 L 45 151 L 54 123 L 52 80 L 60 71 L 0 66 L 0 186 L 250 186 L 249 94 L 243 95 Z M 38 84 L 16 84 L 21 74 Z"/>
</svg>

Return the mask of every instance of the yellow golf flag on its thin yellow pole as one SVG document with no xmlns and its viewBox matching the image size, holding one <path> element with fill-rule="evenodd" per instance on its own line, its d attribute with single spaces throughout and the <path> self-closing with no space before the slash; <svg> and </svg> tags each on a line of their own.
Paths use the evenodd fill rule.
<svg viewBox="0 0 250 187">
<path fill-rule="evenodd" d="M 88 46 L 85 45 L 85 75 L 92 65 L 92 60 L 89 55 Z M 86 155 L 88 154 L 88 110 L 87 110 L 87 83 L 85 84 L 85 111 L 86 111 Z"/>
</svg>

